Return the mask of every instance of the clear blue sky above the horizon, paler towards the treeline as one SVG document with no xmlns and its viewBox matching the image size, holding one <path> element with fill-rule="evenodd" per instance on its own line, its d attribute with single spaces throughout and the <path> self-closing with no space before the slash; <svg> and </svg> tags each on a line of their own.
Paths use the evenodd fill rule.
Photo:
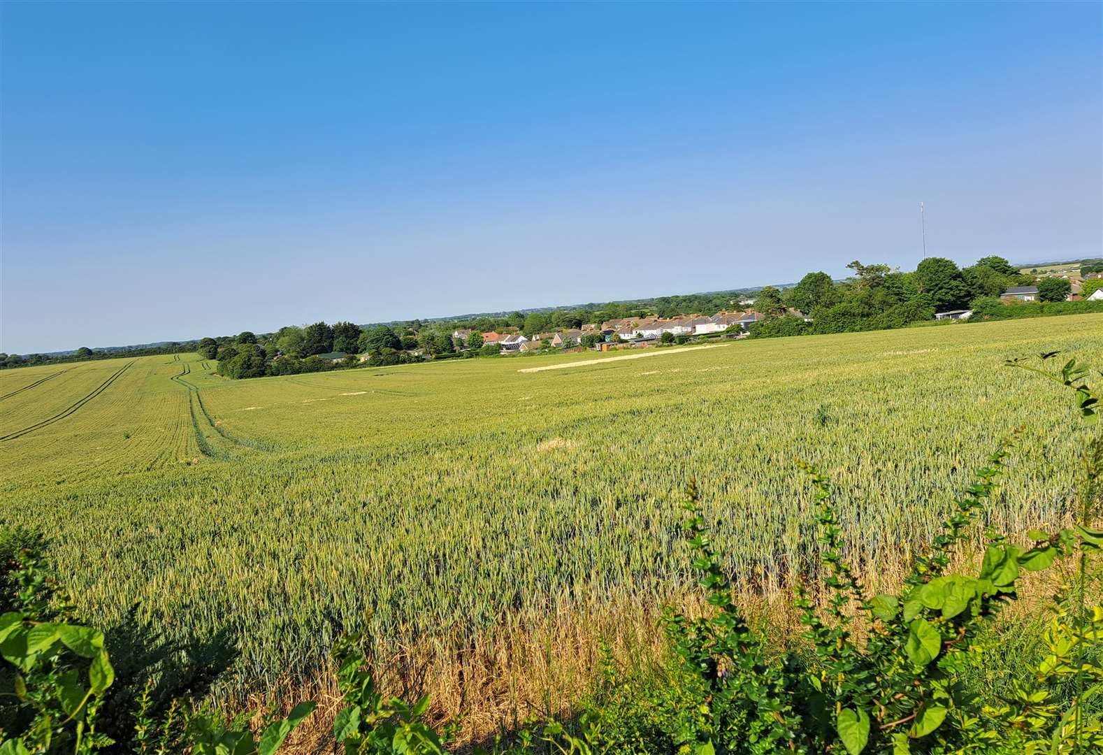
<svg viewBox="0 0 1103 755">
<path fill-rule="evenodd" d="M 12 353 L 1100 254 L 1101 4 L 2 8 Z"/>
</svg>

